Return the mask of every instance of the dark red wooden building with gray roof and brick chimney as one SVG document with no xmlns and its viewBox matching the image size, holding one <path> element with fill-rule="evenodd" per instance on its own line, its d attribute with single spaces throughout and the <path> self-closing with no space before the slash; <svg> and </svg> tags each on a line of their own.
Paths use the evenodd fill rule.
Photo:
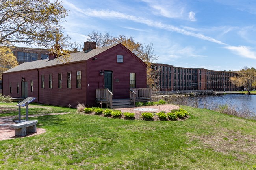
<svg viewBox="0 0 256 170">
<path fill-rule="evenodd" d="M 136 97 L 151 97 L 146 88 L 146 64 L 130 50 L 122 44 L 103 48 L 96 48 L 95 42 L 84 44 L 85 51 L 70 54 L 69 63 L 52 55 L 4 72 L 3 95 L 36 97 L 42 104 L 70 103 L 72 107 L 78 102 L 88 106 L 102 102 L 111 107 L 112 99 L 134 102 Z"/>
</svg>

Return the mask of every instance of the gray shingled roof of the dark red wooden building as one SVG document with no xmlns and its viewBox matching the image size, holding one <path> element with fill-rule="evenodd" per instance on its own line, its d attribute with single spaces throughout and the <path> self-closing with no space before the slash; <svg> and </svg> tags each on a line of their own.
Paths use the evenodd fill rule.
<svg viewBox="0 0 256 170">
<path fill-rule="evenodd" d="M 85 53 L 84 51 L 78 52 L 78 53 L 72 53 L 69 56 L 69 63 L 88 60 L 88 59 L 95 57 L 96 55 L 98 55 L 116 45 L 117 44 L 107 46 L 107 47 L 102 47 L 102 48 L 96 48 L 87 53 Z M 20 64 L 19 66 L 16 66 L 14 68 L 11 68 L 11 69 L 5 71 L 4 73 L 24 71 L 24 70 L 30 70 L 30 69 L 39 69 L 39 68 L 45 68 L 45 67 L 55 66 L 55 65 L 59 65 L 59 64 L 64 64 L 63 62 L 61 62 L 61 57 L 55 58 L 53 60 L 45 59 L 45 60 L 37 60 L 37 61 L 32 61 L 32 62 L 24 62 L 24 63 Z"/>
</svg>

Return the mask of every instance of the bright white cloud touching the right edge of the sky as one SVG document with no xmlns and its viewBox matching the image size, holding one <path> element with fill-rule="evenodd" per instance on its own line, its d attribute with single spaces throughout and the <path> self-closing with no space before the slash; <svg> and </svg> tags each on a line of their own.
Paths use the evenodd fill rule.
<svg viewBox="0 0 256 170">
<path fill-rule="evenodd" d="M 247 46 L 226 46 L 224 47 L 226 49 L 229 49 L 232 51 L 232 53 L 236 55 L 240 55 L 245 58 L 251 58 L 256 60 L 256 53 L 252 51 L 251 47 Z"/>
</svg>

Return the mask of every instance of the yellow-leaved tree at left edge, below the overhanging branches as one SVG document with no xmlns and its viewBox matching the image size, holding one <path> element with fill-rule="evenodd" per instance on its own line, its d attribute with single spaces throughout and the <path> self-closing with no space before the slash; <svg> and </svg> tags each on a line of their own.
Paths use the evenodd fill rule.
<svg viewBox="0 0 256 170">
<path fill-rule="evenodd" d="M 15 55 L 11 52 L 8 47 L 0 46 L 0 80 L 2 80 L 2 73 L 18 66 Z"/>
</svg>

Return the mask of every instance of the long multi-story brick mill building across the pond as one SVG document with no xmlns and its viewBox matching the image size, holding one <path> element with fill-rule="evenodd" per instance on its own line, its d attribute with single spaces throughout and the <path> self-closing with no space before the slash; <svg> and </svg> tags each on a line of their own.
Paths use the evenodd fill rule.
<svg viewBox="0 0 256 170">
<path fill-rule="evenodd" d="M 174 67 L 168 64 L 152 64 L 152 69 L 159 70 L 157 86 L 160 91 L 172 90 L 213 90 L 237 91 L 230 82 L 230 77 L 237 76 L 233 71 L 214 71 L 204 68 Z"/>
</svg>

